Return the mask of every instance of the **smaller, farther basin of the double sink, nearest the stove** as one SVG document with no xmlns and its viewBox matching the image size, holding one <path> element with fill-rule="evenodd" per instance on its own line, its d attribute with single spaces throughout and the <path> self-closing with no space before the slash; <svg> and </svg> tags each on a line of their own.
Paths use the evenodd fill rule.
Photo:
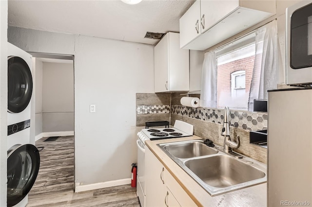
<svg viewBox="0 0 312 207">
<path fill-rule="evenodd" d="M 218 153 L 217 150 L 208 147 L 200 140 L 166 144 L 163 148 L 171 155 L 183 159 Z"/>
</svg>

